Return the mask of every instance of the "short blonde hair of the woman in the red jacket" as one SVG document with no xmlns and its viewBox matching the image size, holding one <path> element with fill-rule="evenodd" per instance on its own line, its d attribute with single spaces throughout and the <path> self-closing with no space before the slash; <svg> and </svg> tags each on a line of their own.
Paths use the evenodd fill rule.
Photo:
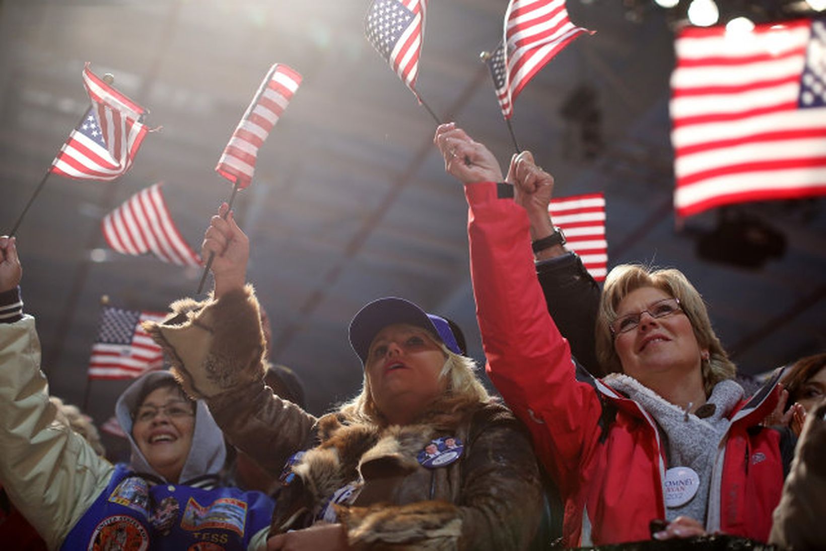
<svg viewBox="0 0 826 551">
<path fill-rule="evenodd" d="M 619 302 L 629 293 L 642 287 L 662 290 L 680 301 L 680 308 L 686 314 L 700 348 L 708 348 L 709 359 L 700 361 L 705 394 L 719 381 L 733 379 L 737 367 L 729 360 L 719 338 L 711 328 L 708 311 L 703 297 L 691 285 L 686 275 L 676 268 L 655 269 L 640 264 L 621 264 L 610 271 L 605 278 L 605 286 L 600 298 L 600 308 L 596 314 L 596 357 L 605 371 L 622 372 L 622 364 L 614 347 L 614 335 L 610 323 L 616 317 Z"/>
</svg>

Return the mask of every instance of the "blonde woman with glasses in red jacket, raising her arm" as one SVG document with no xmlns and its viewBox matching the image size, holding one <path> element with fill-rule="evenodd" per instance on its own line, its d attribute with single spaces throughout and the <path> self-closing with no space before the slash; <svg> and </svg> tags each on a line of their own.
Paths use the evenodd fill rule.
<svg viewBox="0 0 826 551">
<path fill-rule="evenodd" d="M 503 184 L 491 152 L 453 124 L 434 141 L 470 206 L 487 369 L 563 491 L 564 543 L 581 544 L 589 525 L 594 544 L 713 532 L 766 541 L 792 453 L 785 433 L 761 426 L 779 373 L 744 396 L 685 275 L 634 265 L 610 271 L 596 314 L 596 357 L 609 375 L 577 372 L 530 247 L 541 236 L 529 212 L 553 178 L 524 153 Z"/>
</svg>

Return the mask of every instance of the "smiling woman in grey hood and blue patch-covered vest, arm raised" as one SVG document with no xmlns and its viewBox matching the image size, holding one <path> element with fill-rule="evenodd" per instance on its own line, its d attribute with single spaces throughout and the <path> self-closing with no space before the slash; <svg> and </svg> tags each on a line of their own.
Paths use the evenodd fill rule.
<svg viewBox="0 0 826 551">
<path fill-rule="evenodd" d="M 169 371 L 117 401 L 128 463 L 98 457 L 56 418 L 21 273 L 14 239 L 0 237 L 0 482 L 48 548 L 265 549 L 273 501 L 220 485 L 221 429 Z"/>
</svg>

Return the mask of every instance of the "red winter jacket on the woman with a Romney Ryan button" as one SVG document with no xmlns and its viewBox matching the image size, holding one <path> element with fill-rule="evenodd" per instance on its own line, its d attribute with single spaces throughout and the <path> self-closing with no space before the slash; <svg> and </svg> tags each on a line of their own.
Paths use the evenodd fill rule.
<svg viewBox="0 0 826 551">
<path fill-rule="evenodd" d="M 650 539 L 649 521 L 666 518 L 667 465 L 656 424 L 637 402 L 599 379 L 577 381 L 570 348 L 536 278 L 525 209 L 507 197 L 507 187 L 483 182 L 465 188 L 488 374 L 528 425 L 539 458 L 563 493 L 565 544 L 579 544 L 583 505 L 594 544 Z M 771 381 L 732 414 L 714 465 L 709 531 L 768 539 L 783 458 L 780 433 L 759 423 L 776 405 L 774 388 Z"/>
</svg>

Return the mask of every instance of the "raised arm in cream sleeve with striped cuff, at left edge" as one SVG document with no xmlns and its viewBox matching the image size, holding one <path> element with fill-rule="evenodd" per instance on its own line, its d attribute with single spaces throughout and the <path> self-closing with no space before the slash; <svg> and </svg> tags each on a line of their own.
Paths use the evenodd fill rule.
<svg viewBox="0 0 826 551">
<path fill-rule="evenodd" d="M 0 237 L 0 482 L 50 549 L 107 486 L 114 467 L 56 419 L 35 319 L 22 313 L 15 240 Z"/>
</svg>

